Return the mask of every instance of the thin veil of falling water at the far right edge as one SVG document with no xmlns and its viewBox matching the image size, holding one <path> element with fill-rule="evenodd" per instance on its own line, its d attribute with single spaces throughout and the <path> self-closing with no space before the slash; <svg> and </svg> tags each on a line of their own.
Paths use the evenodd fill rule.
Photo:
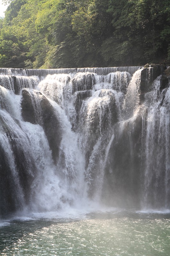
<svg viewBox="0 0 170 256">
<path fill-rule="evenodd" d="M 144 131 L 144 207 L 169 206 L 170 116 L 169 88 L 159 92 L 160 77 L 146 95 L 147 127 Z"/>
</svg>

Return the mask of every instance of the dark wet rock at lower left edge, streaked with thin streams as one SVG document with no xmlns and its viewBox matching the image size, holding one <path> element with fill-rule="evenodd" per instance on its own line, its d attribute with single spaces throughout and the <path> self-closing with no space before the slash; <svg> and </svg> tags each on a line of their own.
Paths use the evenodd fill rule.
<svg viewBox="0 0 170 256">
<path fill-rule="evenodd" d="M 12 118 L 12 117 L 11 117 Z M 17 130 L 15 131 L 8 121 L 0 116 L 0 130 L 8 140 L 13 159 L 7 157 L 4 147 L 0 145 L 0 207 L 1 214 L 22 210 L 23 204 L 29 203 L 29 195 L 33 177 L 36 174 L 36 166 L 31 152 L 25 147 L 25 141 L 29 138 L 21 128 L 18 120 L 12 118 Z M 20 135 L 18 135 L 20 134 Z M 22 191 L 20 191 L 22 190 Z M 22 200 L 20 194 L 23 195 Z M 22 203 L 21 203 L 22 201 Z"/>
</svg>

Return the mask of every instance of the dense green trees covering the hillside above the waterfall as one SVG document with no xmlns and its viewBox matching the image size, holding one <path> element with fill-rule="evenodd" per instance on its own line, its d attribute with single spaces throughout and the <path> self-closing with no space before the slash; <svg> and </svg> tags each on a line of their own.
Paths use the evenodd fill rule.
<svg viewBox="0 0 170 256">
<path fill-rule="evenodd" d="M 72 68 L 170 63 L 169 0 L 11 0 L 0 66 Z"/>
</svg>

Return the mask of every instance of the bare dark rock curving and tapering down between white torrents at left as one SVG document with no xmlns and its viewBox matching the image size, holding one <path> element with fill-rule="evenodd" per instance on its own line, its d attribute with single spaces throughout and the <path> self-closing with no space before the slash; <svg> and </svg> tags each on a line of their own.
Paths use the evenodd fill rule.
<svg viewBox="0 0 170 256">
<path fill-rule="evenodd" d="M 41 92 L 22 90 L 22 117 L 25 122 L 42 125 L 47 136 L 53 160 L 56 163 L 62 137 L 57 114 L 48 99 Z"/>
</svg>

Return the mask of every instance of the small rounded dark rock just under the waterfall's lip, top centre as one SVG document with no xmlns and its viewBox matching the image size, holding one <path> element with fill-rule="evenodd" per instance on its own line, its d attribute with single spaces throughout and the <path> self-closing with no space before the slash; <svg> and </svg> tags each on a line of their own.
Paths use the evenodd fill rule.
<svg viewBox="0 0 170 256">
<path fill-rule="evenodd" d="M 92 90 L 93 84 L 95 84 L 95 74 L 94 73 L 77 73 L 72 82 L 72 93 L 77 91 Z"/>
</svg>

